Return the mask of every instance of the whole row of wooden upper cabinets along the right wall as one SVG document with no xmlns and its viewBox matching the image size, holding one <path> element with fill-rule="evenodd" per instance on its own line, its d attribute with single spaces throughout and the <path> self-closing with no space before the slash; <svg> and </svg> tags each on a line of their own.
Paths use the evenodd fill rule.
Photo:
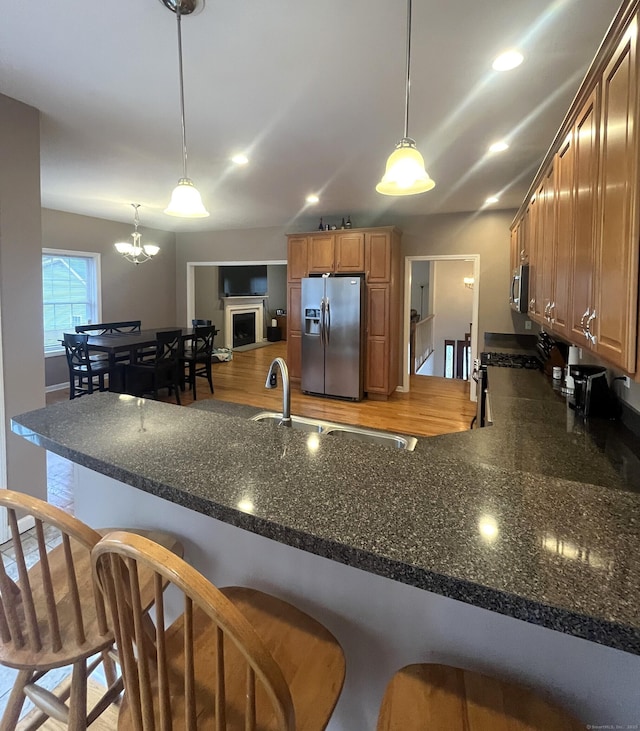
<svg viewBox="0 0 640 731">
<path fill-rule="evenodd" d="M 529 316 L 636 379 L 639 6 L 623 3 L 512 227 L 528 231 Z"/>
</svg>

